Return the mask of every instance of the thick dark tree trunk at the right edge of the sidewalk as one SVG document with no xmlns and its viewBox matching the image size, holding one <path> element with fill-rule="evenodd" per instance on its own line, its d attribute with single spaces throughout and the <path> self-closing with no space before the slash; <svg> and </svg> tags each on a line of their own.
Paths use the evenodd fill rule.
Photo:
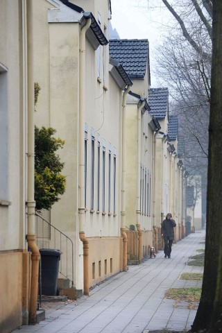
<svg viewBox="0 0 222 333">
<path fill-rule="evenodd" d="M 222 1 L 213 0 L 213 49 L 207 185 L 205 268 L 200 304 L 192 332 L 222 327 Z"/>
</svg>

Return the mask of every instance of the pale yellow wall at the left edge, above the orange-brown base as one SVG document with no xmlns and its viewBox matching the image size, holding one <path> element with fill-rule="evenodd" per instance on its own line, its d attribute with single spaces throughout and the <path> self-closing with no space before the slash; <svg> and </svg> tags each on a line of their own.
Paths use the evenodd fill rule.
<svg viewBox="0 0 222 333">
<path fill-rule="evenodd" d="M 19 35 L 19 3 L 1 1 L 0 4 L 0 62 L 7 72 L 0 74 L 7 82 L 8 124 L 8 200 L 10 206 L 0 205 L 0 250 L 25 247 L 25 114 L 22 104 L 22 33 Z M 19 44 L 20 38 L 20 44 Z M 21 57 L 21 58 L 20 58 Z M 21 65 L 21 67 L 19 67 Z M 21 70 L 21 71 L 20 71 Z M 1 102 L 2 103 L 2 102 Z M 2 139 L 6 139 L 5 137 Z M 18 195 L 19 194 L 19 195 Z"/>
</svg>

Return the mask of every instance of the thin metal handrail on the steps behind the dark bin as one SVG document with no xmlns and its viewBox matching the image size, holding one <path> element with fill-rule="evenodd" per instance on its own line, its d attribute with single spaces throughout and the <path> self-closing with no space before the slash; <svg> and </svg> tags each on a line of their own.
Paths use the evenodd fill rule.
<svg viewBox="0 0 222 333">
<path fill-rule="evenodd" d="M 37 228 L 37 232 L 36 232 L 36 239 L 37 239 L 37 246 L 38 244 L 40 244 L 40 241 L 42 241 L 43 243 L 47 242 L 48 243 L 48 247 L 50 242 L 52 241 L 52 232 L 51 229 L 53 230 L 53 248 L 60 250 L 62 252 L 62 241 L 65 237 L 65 246 L 66 246 L 66 271 L 62 271 L 62 256 L 60 258 L 60 270 L 59 273 L 64 276 L 65 278 L 67 278 L 69 281 L 71 281 L 71 287 L 74 287 L 74 244 L 73 241 L 66 235 L 64 234 L 62 231 L 60 231 L 58 228 L 56 228 L 54 225 L 52 225 L 51 223 L 49 223 L 48 221 L 46 221 L 39 213 L 35 212 L 35 216 L 36 216 L 36 228 Z M 42 237 L 40 237 L 38 235 L 38 219 L 42 220 Z M 50 230 L 50 234 L 49 237 L 44 237 L 44 223 L 46 223 L 46 225 L 49 226 L 49 230 Z M 58 241 L 56 241 L 56 232 L 59 233 L 59 241 L 60 241 L 60 246 L 57 246 Z M 69 267 L 69 263 L 68 263 L 68 248 L 69 248 L 69 244 L 71 246 L 71 277 L 68 274 L 68 267 Z M 59 248 L 58 248 L 59 247 Z"/>
</svg>

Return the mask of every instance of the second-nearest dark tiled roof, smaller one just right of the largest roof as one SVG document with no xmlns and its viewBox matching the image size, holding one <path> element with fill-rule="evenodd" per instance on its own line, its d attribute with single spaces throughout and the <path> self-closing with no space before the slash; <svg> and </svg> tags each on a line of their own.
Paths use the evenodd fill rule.
<svg viewBox="0 0 222 333">
<path fill-rule="evenodd" d="M 157 119 L 166 117 L 168 98 L 168 88 L 151 88 L 149 90 L 148 105 L 151 107 L 151 114 Z"/>
</svg>

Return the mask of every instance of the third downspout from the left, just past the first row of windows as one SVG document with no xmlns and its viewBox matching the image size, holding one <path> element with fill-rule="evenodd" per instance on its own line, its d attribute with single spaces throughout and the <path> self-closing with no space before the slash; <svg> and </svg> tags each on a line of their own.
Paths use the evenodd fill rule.
<svg viewBox="0 0 222 333">
<path fill-rule="evenodd" d="M 122 115 L 122 188 L 121 188 L 121 234 L 123 236 L 123 271 L 127 267 L 127 234 L 126 234 L 126 95 L 130 91 L 130 85 L 123 92 Z"/>
</svg>

